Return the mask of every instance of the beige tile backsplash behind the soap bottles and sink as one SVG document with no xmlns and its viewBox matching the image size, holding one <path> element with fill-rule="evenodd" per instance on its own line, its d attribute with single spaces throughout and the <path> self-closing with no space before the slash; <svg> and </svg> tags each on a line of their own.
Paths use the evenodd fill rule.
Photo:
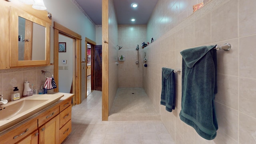
<svg viewBox="0 0 256 144">
<path fill-rule="evenodd" d="M 31 67 L 31 68 L 12 68 L 6 70 L 0 70 L 0 94 L 4 95 L 4 99 L 8 101 L 12 100 L 12 93 L 14 86 L 18 86 L 20 95 L 23 94 L 24 82 L 28 80 L 30 82 L 29 87 L 38 90 L 40 86 L 44 85 L 46 80 L 44 74 L 41 73 L 41 70 L 51 72 L 54 74 L 54 67 L 52 66 L 40 66 L 40 67 Z M 48 73 L 49 74 L 49 73 Z M 50 75 L 46 76 L 51 76 Z M 53 92 L 54 90 L 48 90 L 48 92 Z"/>
</svg>

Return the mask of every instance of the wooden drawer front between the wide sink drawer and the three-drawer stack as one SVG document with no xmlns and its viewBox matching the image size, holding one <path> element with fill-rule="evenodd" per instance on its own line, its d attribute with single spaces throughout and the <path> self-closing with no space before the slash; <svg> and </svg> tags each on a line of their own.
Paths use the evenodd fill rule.
<svg viewBox="0 0 256 144">
<path fill-rule="evenodd" d="M 54 118 L 54 116 L 57 116 L 59 113 L 60 113 L 59 107 L 55 107 L 55 108 L 51 108 L 50 110 L 47 110 L 38 118 L 38 127 L 42 126 L 44 123 Z"/>
</svg>

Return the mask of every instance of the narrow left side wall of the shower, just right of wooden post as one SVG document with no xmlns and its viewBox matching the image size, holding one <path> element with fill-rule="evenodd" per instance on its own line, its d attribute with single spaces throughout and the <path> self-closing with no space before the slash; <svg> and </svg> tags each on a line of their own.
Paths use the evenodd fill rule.
<svg viewBox="0 0 256 144">
<path fill-rule="evenodd" d="M 108 112 L 110 112 L 118 89 L 118 66 L 115 64 L 118 51 L 116 48 L 118 43 L 118 27 L 113 0 L 108 1 L 108 19 Z"/>
</svg>

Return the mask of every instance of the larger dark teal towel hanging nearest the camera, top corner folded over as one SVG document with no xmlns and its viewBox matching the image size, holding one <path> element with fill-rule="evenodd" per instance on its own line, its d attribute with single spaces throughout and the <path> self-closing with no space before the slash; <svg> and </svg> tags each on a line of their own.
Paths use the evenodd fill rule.
<svg viewBox="0 0 256 144">
<path fill-rule="evenodd" d="M 215 46 L 201 46 L 182 55 L 182 101 L 180 119 L 206 140 L 216 137 L 218 123 L 214 107 L 217 93 Z"/>
</svg>

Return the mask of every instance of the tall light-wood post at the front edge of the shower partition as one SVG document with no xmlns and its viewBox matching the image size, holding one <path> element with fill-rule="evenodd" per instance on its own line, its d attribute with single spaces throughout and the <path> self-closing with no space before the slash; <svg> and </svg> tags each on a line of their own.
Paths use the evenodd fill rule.
<svg viewBox="0 0 256 144">
<path fill-rule="evenodd" d="M 102 0 L 102 121 L 108 121 L 108 0 Z"/>
</svg>

